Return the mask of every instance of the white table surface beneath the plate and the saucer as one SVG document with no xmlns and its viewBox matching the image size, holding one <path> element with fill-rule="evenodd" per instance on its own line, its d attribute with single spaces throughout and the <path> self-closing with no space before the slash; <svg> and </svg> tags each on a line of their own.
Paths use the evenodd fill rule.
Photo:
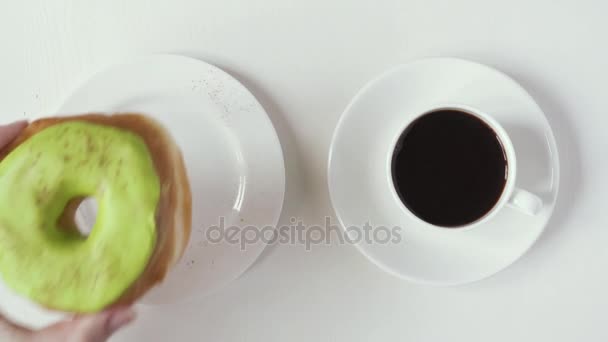
<svg viewBox="0 0 608 342">
<path fill-rule="evenodd" d="M 216 64 L 262 102 L 285 152 L 282 223 L 334 216 L 336 122 L 370 78 L 424 56 L 497 67 L 554 128 L 561 193 L 539 243 L 487 280 L 409 284 L 352 246 L 275 246 L 243 277 L 187 305 L 140 310 L 112 341 L 608 340 L 606 2 L 555 0 L 106 0 L 0 2 L 0 113 L 52 113 L 128 56 Z"/>
</svg>

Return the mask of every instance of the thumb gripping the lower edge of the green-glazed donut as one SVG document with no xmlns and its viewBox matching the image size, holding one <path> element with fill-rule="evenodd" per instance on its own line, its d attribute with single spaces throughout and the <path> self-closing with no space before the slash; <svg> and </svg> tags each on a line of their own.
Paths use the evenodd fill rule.
<svg viewBox="0 0 608 342">
<path fill-rule="evenodd" d="M 81 316 L 36 332 L 33 341 L 104 342 L 134 318 L 135 312 L 130 308 Z"/>
</svg>

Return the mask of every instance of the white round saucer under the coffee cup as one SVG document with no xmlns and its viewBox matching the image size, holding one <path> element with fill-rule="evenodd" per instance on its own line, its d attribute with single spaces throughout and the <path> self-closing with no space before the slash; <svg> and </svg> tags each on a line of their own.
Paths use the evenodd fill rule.
<svg viewBox="0 0 608 342">
<path fill-rule="evenodd" d="M 391 196 L 386 156 L 412 115 L 459 103 L 496 119 L 517 154 L 517 186 L 544 202 L 536 216 L 505 207 L 471 230 L 422 229 Z M 331 201 L 343 227 L 401 227 L 397 243 L 356 246 L 383 270 L 425 284 L 456 285 L 488 277 L 538 239 L 555 206 L 559 162 L 542 110 L 514 80 L 490 67 L 431 58 L 399 66 L 366 85 L 346 108 L 329 155 Z"/>
</svg>

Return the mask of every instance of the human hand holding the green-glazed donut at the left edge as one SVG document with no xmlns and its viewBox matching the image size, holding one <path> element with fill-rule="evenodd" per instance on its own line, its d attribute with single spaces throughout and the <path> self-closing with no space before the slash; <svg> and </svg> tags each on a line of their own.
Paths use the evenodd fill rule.
<svg viewBox="0 0 608 342">
<path fill-rule="evenodd" d="M 0 126 L 0 149 L 27 126 L 16 122 Z M 0 342 L 104 342 L 135 318 L 130 308 L 118 308 L 94 315 L 78 316 L 46 329 L 33 331 L 17 326 L 0 315 Z"/>
</svg>

